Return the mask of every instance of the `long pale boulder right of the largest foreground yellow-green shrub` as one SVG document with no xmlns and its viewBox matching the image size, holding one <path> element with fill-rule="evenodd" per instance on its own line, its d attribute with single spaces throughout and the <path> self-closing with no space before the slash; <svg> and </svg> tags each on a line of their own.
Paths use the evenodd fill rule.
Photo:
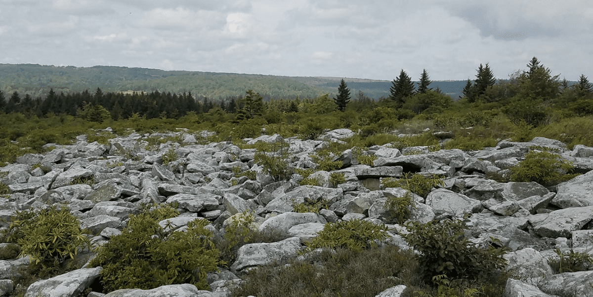
<svg viewBox="0 0 593 297">
<path fill-rule="evenodd" d="M 232 272 L 240 272 L 249 267 L 282 262 L 297 256 L 301 249 L 301 240 L 290 237 L 277 243 L 252 243 L 242 246 L 237 251 L 237 260 L 231 265 Z"/>
</svg>

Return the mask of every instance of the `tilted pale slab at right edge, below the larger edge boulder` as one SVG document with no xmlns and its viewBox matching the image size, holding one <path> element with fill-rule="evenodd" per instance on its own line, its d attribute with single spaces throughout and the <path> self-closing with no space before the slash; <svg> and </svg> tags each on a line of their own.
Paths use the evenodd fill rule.
<svg viewBox="0 0 593 297">
<path fill-rule="evenodd" d="M 535 233 L 541 237 L 566 237 L 593 219 L 593 206 L 573 207 L 550 212 L 544 221 L 534 226 Z"/>
</svg>

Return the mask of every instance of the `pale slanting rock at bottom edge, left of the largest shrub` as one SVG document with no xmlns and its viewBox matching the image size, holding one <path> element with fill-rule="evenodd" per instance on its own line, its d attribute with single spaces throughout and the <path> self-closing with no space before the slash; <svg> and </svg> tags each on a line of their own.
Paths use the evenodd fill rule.
<svg viewBox="0 0 593 297">
<path fill-rule="evenodd" d="M 76 269 L 50 279 L 38 280 L 27 288 L 25 297 L 78 296 L 94 282 L 102 269 Z"/>
</svg>

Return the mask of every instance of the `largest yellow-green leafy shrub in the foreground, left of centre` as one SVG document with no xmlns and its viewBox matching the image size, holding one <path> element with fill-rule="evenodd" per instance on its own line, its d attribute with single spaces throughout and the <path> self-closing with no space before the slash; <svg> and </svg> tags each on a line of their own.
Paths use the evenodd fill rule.
<svg viewBox="0 0 593 297">
<path fill-rule="evenodd" d="M 148 206 L 140 214 L 130 215 L 122 234 L 99 248 L 89 267 L 103 267 L 101 283 L 106 292 L 177 283 L 208 288 L 206 273 L 219 264 L 213 234 L 205 228 L 210 222 L 196 218 L 184 231 L 166 231 L 158 225 L 174 213 L 171 206 Z"/>
</svg>

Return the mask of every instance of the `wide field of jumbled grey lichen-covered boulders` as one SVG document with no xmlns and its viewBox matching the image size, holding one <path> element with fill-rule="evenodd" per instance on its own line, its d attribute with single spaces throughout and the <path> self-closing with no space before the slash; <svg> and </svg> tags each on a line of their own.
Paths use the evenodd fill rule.
<svg viewBox="0 0 593 297">
<path fill-rule="evenodd" d="M 244 147 L 257 141 L 283 141 L 289 166 L 312 169 L 315 151 L 353 134 L 339 129 L 305 141 L 266 135 L 248 139 Z M 549 259 L 559 258 L 558 251 L 593 255 L 591 147 L 579 145 L 568 150 L 560 141 L 541 137 L 525 143 L 500 141 L 498 146 L 480 151 L 429 147 L 400 151 L 388 145 L 373 146 L 363 152 L 376 157 L 372 166 L 359 164 L 353 150 L 346 150 L 331 156 L 331 161 L 341 162 L 341 168 L 314 172 L 308 178 L 315 179 L 317 185 L 301 185 L 303 177 L 298 174 L 285 180 L 267 174 L 262 164 L 254 162 L 256 149 L 241 149 L 230 142 L 198 144 L 194 135 L 184 131 L 152 135 L 176 136 L 181 141 L 148 147 L 146 136 L 132 133 L 98 144 L 87 143 L 83 135 L 76 144 L 47 144 L 52 150 L 45 154 L 25 154 L 17 163 L 0 167 L 0 182 L 8 192 L 0 198 L 2 225 L 6 229 L 16 211 L 66 204 L 81 227 L 94 234 L 91 242 L 100 246 L 122 233 L 129 215 L 138 214 L 141 204 L 177 202 L 180 215 L 161 221 L 162 227 L 184 230 L 195 218 L 205 218 L 211 222 L 206 229 L 213 234 L 224 232 L 233 216 L 251 210 L 255 215 L 251 228 L 281 231 L 286 239 L 239 248 L 229 269 L 208 273 L 211 290 L 183 284 L 104 295 L 231 296 L 229 288 L 241 283 L 240 276 L 247 270 L 296 257 L 327 222 L 362 219 L 386 224 L 388 238 L 379 245 L 409 249 L 403 238 L 406 227 L 395 224 L 385 208 L 388 198 L 406 191 L 385 188 L 382 181 L 417 173 L 442 177 L 442 183 L 426 197 L 413 195 L 409 219 L 425 223 L 465 218 L 466 235 L 472 243 L 487 246 L 495 238 L 494 242 L 508 247 L 504 257 L 514 277 L 506 284 L 506 296 L 593 296 L 593 266 L 585 263 L 579 269 L 582 271 L 556 273 L 549 264 Z M 572 162 L 574 172 L 581 175 L 557 185 L 503 182 L 511 175 L 509 168 L 524 160 L 529 151 L 538 150 Z M 254 178 L 238 174 L 244 172 L 252 172 Z M 343 173 L 344 179 L 336 183 L 331 173 Z M 318 213 L 294 212 L 295 204 L 311 201 L 323 201 L 326 207 Z M 19 289 L 15 273 L 28 263 L 28 257 L 0 261 L 2 296 Z M 92 292 L 100 272 L 101 267 L 85 266 L 39 280 L 28 287 L 25 296 L 79 296 L 82 292 L 103 296 Z M 405 286 L 398 285 L 377 296 L 400 296 L 404 291 Z"/>
</svg>

